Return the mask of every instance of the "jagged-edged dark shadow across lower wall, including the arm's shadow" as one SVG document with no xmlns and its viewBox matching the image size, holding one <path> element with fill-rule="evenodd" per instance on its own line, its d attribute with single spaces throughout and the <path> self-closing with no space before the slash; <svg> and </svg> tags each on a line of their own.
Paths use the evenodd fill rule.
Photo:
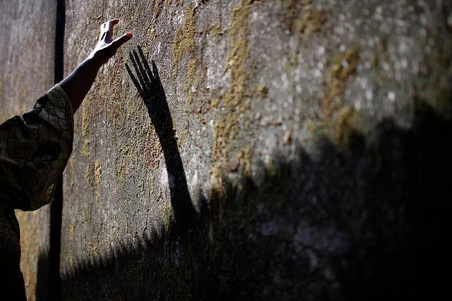
<svg viewBox="0 0 452 301">
<path fill-rule="evenodd" d="M 174 221 L 79 263 L 62 276 L 64 299 L 452 297 L 452 124 L 426 102 L 410 129 L 386 119 L 369 137 L 352 134 L 345 152 L 325 139 L 315 159 L 295 145 L 292 159 L 256 162 L 254 178 L 223 176 L 196 214 L 157 67 L 140 49 L 131 62 L 174 179 Z"/>
</svg>

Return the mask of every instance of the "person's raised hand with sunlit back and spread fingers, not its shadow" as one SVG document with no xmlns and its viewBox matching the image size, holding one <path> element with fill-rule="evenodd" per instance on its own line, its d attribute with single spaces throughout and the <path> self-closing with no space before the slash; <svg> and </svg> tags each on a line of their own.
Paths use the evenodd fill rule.
<svg viewBox="0 0 452 301">
<path fill-rule="evenodd" d="M 118 48 L 133 37 L 131 32 L 127 32 L 121 37 L 113 39 L 113 27 L 118 23 L 119 19 L 112 19 L 100 25 L 99 40 L 88 59 L 96 59 L 101 64 L 107 63 L 116 54 Z"/>
</svg>

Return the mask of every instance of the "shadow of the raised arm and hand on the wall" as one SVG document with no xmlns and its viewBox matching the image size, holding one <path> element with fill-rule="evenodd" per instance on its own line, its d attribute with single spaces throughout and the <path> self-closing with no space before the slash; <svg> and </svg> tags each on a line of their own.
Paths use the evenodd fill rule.
<svg viewBox="0 0 452 301">
<path fill-rule="evenodd" d="M 157 66 L 151 61 L 151 70 L 140 46 L 138 52 L 130 52 L 130 59 L 136 75 L 133 75 L 126 64 L 127 72 L 148 109 L 150 120 L 162 145 L 175 223 L 180 230 L 189 230 L 196 224 L 196 211 L 191 202 L 174 125 Z"/>
</svg>

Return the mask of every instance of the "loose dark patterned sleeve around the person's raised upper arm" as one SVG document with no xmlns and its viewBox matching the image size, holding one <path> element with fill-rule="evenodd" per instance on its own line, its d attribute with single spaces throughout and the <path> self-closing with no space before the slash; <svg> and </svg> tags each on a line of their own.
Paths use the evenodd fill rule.
<svg viewBox="0 0 452 301">
<path fill-rule="evenodd" d="M 0 125 L 0 204 L 35 210 L 52 200 L 72 151 L 73 111 L 55 85 L 33 109 Z"/>
</svg>

